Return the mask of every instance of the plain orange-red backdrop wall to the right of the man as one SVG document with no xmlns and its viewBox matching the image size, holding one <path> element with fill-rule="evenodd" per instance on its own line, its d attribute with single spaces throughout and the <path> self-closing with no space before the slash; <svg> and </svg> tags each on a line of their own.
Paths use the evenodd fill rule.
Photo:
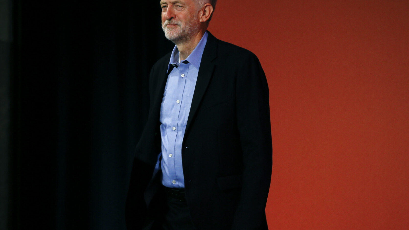
<svg viewBox="0 0 409 230">
<path fill-rule="evenodd" d="M 271 229 L 409 229 L 409 1 L 219 1 L 270 87 Z"/>
</svg>

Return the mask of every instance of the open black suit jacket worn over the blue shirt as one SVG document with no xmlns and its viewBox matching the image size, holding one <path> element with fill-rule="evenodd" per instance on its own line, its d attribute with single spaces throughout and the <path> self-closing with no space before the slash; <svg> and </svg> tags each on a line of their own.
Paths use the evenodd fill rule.
<svg viewBox="0 0 409 230">
<path fill-rule="evenodd" d="M 126 203 L 128 229 L 165 210 L 152 177 L 161 151 L 160 106 L 170 53 L 153 66 L 148 121 L 135 150 Z M 250 51 L 209 33 L 182 143 L 186 199 L 198 230 L 267 229 L 272 170 L 267 80 Z M 148 205 L 147 205 L 148 204 Z"/>
</svg>

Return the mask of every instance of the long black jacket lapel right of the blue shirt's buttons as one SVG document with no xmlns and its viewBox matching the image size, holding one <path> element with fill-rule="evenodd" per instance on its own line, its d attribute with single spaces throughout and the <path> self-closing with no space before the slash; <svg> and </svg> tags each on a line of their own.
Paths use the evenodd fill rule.
<svg viewBox="0 0 409 230">
<path fill-rule="evenodd" d="M 210 32 L 207 33 L 209 33 L 209 36 L 207 37 L 205 50 L 203 51 L 202 60 L 200 61 L 198 79 L 196 81 L 195 92 L 193 93 L 185 135 L 189 132 L 190 124 L 196 115 L 203 96 L 205 95 L 214 70 L 214 64 L 211 61 L 216 58 L 217 39 L 210 34 Z"/>
</svg>

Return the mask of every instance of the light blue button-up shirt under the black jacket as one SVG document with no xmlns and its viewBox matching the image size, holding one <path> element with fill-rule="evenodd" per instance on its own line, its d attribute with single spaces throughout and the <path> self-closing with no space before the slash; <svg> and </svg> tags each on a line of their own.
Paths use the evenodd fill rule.
<svg viewBox="0 0 409 230">
<path fill-rule="evenodd" d="M 174 68 L 166 81 L 160 107 L 160 134 L 162 138 L 162 152 L 158 156 L 158 163 L 162 157 L 162 184 L 166 187 L 183 188 L 184 176 L 182 168 L 182 142 L 189 117 L 193 93 L 203 50 L 207 42 L 207 32 L 195 47 L 193 52 L 182 61 L 179 59 L 179 50 L 175 46 L 169 61 Z"/>
</svg>

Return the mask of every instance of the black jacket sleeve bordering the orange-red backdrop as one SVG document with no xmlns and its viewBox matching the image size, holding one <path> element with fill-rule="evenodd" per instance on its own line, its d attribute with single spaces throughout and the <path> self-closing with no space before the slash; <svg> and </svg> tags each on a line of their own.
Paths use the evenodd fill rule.
<svg viewBox="0 0 409 230">
<path fill-rule="evenodd" d="M 250 54 L 236 79 L 237 126 L 243 150 L 243 183 L 232 229 L 267 229 L 265 205 L 272 171 L 272 140 L 267 79 Z"/>
</svg>

